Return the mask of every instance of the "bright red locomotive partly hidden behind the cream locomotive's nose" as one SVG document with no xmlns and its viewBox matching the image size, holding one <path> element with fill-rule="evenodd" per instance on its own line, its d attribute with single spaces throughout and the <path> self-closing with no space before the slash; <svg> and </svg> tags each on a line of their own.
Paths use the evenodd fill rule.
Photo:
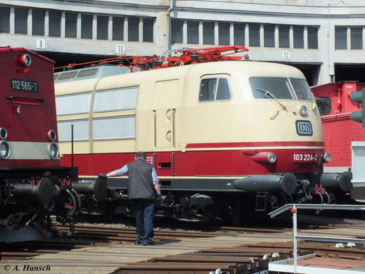
<svg viewBox="0 0 365 274">
<path fill-rule="evenodd" d="M 332 156 L 325 163 L 324 172 L 340 173 L 351 171 L 351 142 L 365 141 L 365 128 L 361 123 L 351 121 L 350 115 L 361 110 L 361 104 L 351 101 L 351 93 L 361 91 L 365 83 L 343 81 L 312 87 L 322 116 L 326 151 Z M 359 199 L 364 191 L 351 185 L 351 198 Z"/>
</svg>

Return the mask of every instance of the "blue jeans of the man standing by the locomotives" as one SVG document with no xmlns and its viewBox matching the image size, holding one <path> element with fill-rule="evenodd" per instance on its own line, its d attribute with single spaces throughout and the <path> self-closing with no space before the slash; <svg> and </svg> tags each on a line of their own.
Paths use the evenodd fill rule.
<svg viewBox="0 0 365 274">
<path fill-rule="evenodd" d="M 152 243 L 155 200 L 132 199 L 138 243 Z"/>
</svg>

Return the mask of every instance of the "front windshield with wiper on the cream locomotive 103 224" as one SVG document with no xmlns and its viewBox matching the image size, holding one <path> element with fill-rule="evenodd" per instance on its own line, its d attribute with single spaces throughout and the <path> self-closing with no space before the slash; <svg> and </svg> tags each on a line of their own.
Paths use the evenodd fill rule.
<svg viewBox="0 0 365 274">
<path fill-rule="evenodd" d="M 307 81 L 300 78 L 252 76 L 250 86 L 257 99 L 267 99 L 268 96 L 262 91 L 269 91 L 278 99 L 312 101 Z"/>
</svg>

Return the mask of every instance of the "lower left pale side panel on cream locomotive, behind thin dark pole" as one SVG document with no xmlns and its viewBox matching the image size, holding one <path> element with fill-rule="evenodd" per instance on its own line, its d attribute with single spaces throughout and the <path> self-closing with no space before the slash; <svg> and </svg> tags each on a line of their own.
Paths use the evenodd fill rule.
<svg viewBox="0 0 365 274">
<path fill-rule="evenodd" d="M 58 121 L 58 141 L 71 142 L 71 125 L 73 125 L 73 141 L 88 141 L 88 120 Z"/>
</svg>

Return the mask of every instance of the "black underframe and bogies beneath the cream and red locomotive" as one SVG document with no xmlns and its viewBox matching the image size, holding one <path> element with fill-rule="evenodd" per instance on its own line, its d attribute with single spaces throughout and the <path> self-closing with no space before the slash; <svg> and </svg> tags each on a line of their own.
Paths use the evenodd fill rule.
<svg viewBox="0 0 365 274">
<path fill-rule="evenodd" d="M 267 175 L 267 178 L 270 176 L 272 174 Z M 274 176 L 280 178 L 284 174 Z M 286 203 L 336 203 L 335 194 L 344 192 L 335 187 L 339 176 L 341 174 L 332 174 L 331 181 L 322 178 L 322 175 L 297 174 L 296 188 L 292 193 L 285 193 L 280 188 L 243 191 L 235 188 L 234 178 L 227 177 L 162 178 L 160 185 L 163 199 L 156 203 L 155 215 L 187 221 L 230 219 L 233 223 L 241 223 L 247 218 L 267 215 Z M 262 177 L 264 176 L 260 176 Z M 329 188 L 324 188 L 321 182 L 327 183 Z M 83 206 L 81 210 L 86 213 L 133 216 L 133 204 L 128 200 L 128 179 L 108 178 L 108 198 L 102 203 L 89 201 L 83 203 Z"/>
</svg>

